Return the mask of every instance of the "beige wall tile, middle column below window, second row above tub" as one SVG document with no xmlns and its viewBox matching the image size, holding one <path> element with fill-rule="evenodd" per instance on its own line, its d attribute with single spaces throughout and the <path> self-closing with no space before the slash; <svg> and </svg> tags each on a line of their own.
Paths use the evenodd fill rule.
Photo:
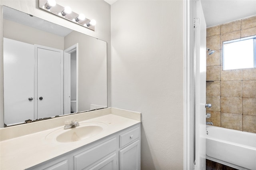
<svg viewBox="0 0 256 170">
<path fill-rule="evenodd" d="M 221 112 L 242 114 L 242 97 L 221 97 L 220 108 Z"/>
</svg>

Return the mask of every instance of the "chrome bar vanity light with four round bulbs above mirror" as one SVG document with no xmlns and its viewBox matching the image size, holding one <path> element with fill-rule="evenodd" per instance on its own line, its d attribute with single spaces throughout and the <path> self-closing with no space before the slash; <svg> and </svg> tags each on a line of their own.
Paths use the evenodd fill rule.
<svg viewBox="0 0 256 170">
<path fill-rule="evenodd" d="M 73 12 L 69 6 L 64 8 L 57 4 L 55 0 L 39 0 L 39 8 L 90 30 L 95 30 L 95 20 L 89 20 L 84 16 L 84 14 L 77 14 Z"/>
</svg>

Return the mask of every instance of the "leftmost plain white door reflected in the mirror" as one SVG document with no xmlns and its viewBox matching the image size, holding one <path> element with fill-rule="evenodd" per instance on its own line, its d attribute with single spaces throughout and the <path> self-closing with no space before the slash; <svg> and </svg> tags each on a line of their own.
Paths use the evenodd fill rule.
<svg viewBox="0 0 256 170">
<path fill-rule="evenodd" d="M 34 120 L 34 45 L 4 38 L 4 123 Z"/>
</svg>

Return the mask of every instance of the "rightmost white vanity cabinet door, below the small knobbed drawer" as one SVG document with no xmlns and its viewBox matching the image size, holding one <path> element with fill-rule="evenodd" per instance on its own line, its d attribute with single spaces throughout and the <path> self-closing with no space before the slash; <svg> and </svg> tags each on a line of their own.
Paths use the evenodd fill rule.
<svg viewBox="0 0 256 170">
<path fill-rule="evenodd" d="M 120 170 L 140 170 L 140 140 L 119 151 Z"/>
</svg>

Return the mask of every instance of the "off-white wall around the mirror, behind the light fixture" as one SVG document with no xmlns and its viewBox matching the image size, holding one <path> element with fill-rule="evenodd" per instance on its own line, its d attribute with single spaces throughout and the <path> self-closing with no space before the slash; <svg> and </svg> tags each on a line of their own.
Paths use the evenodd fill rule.
<svg viewBox="0 0 256 170">
<path fill-rule="evenodd" d="M 72 10 L 78 14 L 84 13 L 89 19 L 95 19 L 97 22 L 95 31 L 41 10 L 38 7 L 38 0 L 1 0 L 0 14 L 2 14 L 2 5 L 5 5 L 89 36 L 93 36 L 100 40 L 104 40 L 107 42 L 107 62 L 108 65 L 110 65 L 110 5 L 103 0 L 56 0 L 56 2 L 62 6 L 70 6 Z M 2 15 L 0 15 L 0 113 L 3 112 L 2 22 L 3 18 Z M 110 67 L 108 67 L 108 106 L 110 106 Z M 0 115 L 2 116 L 2 114 Z M 0 121 L 2 120 L 3 118 L 0 117 Z"/>
</svg>

